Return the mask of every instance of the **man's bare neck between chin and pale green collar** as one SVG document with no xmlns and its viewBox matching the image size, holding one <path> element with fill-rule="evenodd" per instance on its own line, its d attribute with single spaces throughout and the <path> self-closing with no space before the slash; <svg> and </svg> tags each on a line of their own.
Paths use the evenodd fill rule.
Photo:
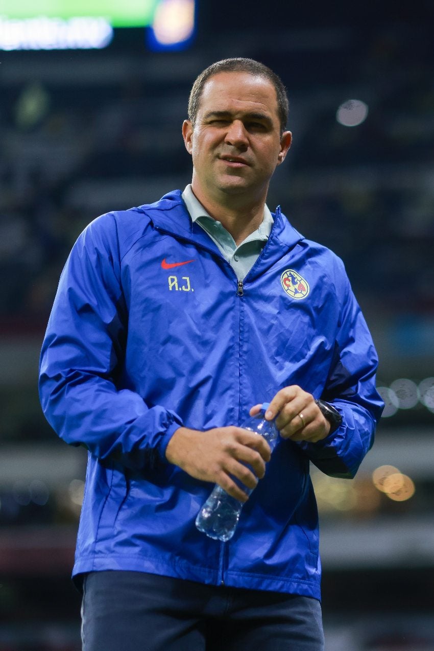
<svg viewBox="0 0 434 651">
<path fill-rule="evenodd" d="M 216 200 L 209 195 L 204 195 L 194 184 L 191 185 L 191 189 L 206 212 L 223 224 L 237 245 L 262 224 L 265 197 L 260 201 L 246 202 L 237 195 L 223 195 Z"/>
</svg>

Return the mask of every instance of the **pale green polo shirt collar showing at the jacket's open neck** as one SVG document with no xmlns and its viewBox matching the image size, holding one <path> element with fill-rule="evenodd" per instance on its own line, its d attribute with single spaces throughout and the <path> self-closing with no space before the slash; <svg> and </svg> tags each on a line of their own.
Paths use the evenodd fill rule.
<svg viewBox="0 0 434 651">
<path fill-rule="evenodd" d="M 260 227 L 252 232 L 238 246 L 232 235 L 224 228 L 220 221 L 213 219 L 204 206 L 198 201 L 197 197 L 189 184 L 182 193 L 182 199 L 187 206 L 191 220 L 198 223 L 204 229 L 211 240 L 219 247 L 221 254 L 229 262 L 232 269 L 237 275 L 237 279 L 242 281 L 249 273 L 256 262 L 258 255 L 264 248 L 265 242 L 273 227 L 273 217 L 269 208 L 264 206 L 264 219 Z"/>
</svg>

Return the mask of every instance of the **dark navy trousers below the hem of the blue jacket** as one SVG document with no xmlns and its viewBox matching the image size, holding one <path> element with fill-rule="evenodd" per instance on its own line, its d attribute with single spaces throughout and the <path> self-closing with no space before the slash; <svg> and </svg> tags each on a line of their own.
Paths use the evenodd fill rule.
<svg viewBox="0 0 434 651">
<path fill-rule="evenodd" d="M 91 572 L 83 651 L 323 651 L 321 605 L 299 595 L 142 572 Z"/>
</svg>

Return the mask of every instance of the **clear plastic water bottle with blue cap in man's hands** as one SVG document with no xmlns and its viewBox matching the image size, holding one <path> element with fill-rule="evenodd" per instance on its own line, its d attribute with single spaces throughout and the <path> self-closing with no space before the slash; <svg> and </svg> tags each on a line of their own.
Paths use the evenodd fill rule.
<svg viewBox="0 0 434 651">
<path fill-rule="evenodd" d="M 241 427 L 244 430 L 263 436 L 271 451 L 273 451 L 278 439 L 278 430 L 274 421 L 265 421 L 265 411 L 267 411 L 268 406 L 269 402 L 264 402 L 261 411 L 256 416 L 249 418 Z M 254 490 L 253 488 L 247 488 L 239 480 L 237 480 L 237 484 L 241 486 L 247 495 L 250 495 Z M 243 502 L 226 493 L 219 484 L 215 484 L 210 497 L 197 514 L 196 526 L 199 531 L 206 533 L 207 536 L 214 538 L 214 540 L 230 540 L 235 533 L 243 505 Z"/>
</svg>

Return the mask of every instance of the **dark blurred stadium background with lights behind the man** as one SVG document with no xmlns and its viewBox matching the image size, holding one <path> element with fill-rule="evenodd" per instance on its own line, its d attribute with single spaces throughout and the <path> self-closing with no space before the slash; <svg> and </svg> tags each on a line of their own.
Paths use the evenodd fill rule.
<svg viewBox="0 0 434 651">
<path fill-rule="evenodd" d="M 80 648 L 86 455 L 36 393 L 64 260 L 97 215 L 189 182 L 189 88 L 230 56 L 286 83 L 294 140 L 269 205 L 344 259 L 381 359 L 357 478 L 312 471 L 327 651 L 433 651 L 434 3 L 152 0 L 137 18 L 125 1 L 132 27 L 28 4 L 0 3 L 0 651 Z"/>
</svg>

